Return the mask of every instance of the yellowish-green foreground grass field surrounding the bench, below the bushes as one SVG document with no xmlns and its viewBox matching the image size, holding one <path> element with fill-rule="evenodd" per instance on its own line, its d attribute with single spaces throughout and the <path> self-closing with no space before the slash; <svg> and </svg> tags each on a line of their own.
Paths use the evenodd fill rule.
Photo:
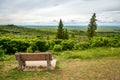
<svg viewBox="0 0 120 80">
<path fill-rule="evenodd" d="M 77 54 L 79 57 L 73 57 L 72 55 L 70 57 L 69 53 Z M 89 54 L 92 55 L 90 58 Z M 102 56 L 98 57 L 93 54 Z M 120 79 L 120 48 L 96 48 L 84 51 L 63 51 L 54 52 L 53 55 L 57 59 L 56 69 L 28 72 L 22 72 L 17 69 L 18 63 L 15 60 L 14 55 L 12 55 L 9 61 L 0 61 L 0 80 Z M 83 55 L 88 56 L 88 58 Z"/>
</svg>

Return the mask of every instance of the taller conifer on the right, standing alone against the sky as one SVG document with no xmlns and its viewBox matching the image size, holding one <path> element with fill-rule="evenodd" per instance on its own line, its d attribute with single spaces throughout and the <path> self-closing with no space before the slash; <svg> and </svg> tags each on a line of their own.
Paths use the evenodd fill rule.
<svg viewBox="0 0 120 80">
<path fill-rule="evenodd" d="M 96 21 L 96 13 L 94 13 L 88 24 L 87 36 L 89 38 L 92 38 L 95 35 L 95 30 L 97 29 Z"/>
</svg>

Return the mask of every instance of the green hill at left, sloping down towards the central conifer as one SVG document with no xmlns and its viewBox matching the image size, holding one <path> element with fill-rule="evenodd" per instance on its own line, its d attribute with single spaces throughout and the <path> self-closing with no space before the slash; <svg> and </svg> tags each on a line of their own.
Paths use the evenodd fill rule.
<svg viewBox="0 0 120 80">
<path fill-rule="evenodd" d="M 12 38 L 42 38 L 46 35 L 52 35 L 55 32 L 45 29 L 33 29 L 15 25 L 1 25 L 0 36 Z"/>
</svg>

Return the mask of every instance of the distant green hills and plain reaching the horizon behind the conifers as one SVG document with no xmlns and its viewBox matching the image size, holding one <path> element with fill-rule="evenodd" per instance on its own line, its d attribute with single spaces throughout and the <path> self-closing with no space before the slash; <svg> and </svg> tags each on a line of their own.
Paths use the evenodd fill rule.
<svg viewBox="0 0 120 80">
<path fill-rule="evenodd" d="M 85 36 L 87 26 L 67 25 L 69 35 Z M 57 32 L 56 25 L 0 25 L 0 37 L 10 38 L 55 38 Z M 98 35 L 113 35 L 120 33 L 120 26 L 98 26 Z"/>
</svg>

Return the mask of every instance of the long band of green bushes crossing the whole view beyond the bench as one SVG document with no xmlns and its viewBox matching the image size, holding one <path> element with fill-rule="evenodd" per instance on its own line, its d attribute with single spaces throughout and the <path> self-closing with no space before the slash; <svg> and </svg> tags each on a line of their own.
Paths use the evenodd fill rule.
<svg viewBox="0 0 120 80">
<path fill-rule="evenodd" d="M 85 50 L 97 47 L 120 47 L 120 37 L 93 37 L 90 40 L 75 42 L 74 40 L 40 40 L 40 39 L 12 39 L 0 38 L 1 49 L 6 54 L 14 54 L 15 52 L 43 52 L 55 50 L 58 45 L 62 50 Z M 56 45 L 56 46 L 55 46 Z M 60 50 L 61 51 L 61 50 Z"/>
</svg>

